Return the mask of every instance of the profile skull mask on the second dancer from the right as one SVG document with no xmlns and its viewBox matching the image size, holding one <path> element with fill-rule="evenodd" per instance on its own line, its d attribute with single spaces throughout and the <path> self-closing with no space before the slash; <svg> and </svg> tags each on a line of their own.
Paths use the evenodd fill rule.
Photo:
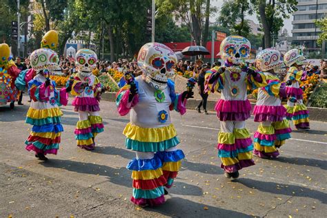
<svg viewBox="0 0 327 218">
<path fill-rule="evenodd" d="M 284 61 L 281 57 L 281 52 L 275 49 L 267 48 L 257 54 L 255 59 L 257 68 L 262 71 L 280 70 Z"/>
</svg>

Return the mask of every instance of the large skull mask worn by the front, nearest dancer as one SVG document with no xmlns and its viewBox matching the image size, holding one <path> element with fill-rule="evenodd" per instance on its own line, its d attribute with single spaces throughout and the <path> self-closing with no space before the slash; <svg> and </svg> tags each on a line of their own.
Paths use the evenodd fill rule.
<svg viewBox="0 0 327 218">
<path fill-rule="evenodd" d="M 175 63 L 175 53 L 161 43 L 146 43 L 137 57 L 137 65 L 143 71 L 146 82 L 156 90 L 167 87 L 168 78 L 175 75 Z"/>
</svg>

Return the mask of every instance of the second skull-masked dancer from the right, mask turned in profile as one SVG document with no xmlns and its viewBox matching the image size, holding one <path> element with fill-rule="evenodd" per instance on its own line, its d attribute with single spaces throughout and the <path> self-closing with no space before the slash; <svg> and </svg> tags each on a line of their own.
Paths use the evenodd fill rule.
<svg viewBox="0 0 327 218">
<path fill-rule="evenodd" d="M 265 49 L 257 55 L 256 67 L 261 70 L 263 82 L 255 84 L 259 91 L 253 114 L 260 125 L 255 132 L 253 155 L 276 158 L 279 155 L 277 148 L 290 139 L 292 132 L 286 119 L 286 108 L 281 105 L 281 99 L 286 98 L 286 85 L 277 75 L 285 65 L 279 51 Z"/>
</svg>

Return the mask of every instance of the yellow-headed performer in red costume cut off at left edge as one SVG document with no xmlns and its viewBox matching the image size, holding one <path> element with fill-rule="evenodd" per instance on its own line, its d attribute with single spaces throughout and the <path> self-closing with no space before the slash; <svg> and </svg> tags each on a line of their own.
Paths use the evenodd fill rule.
<svg viewBox="0 0 327 218">
<path fill-rule="evenodd" d="M 18 90 L 14 86 L 19 70 L 10 60 L 10 48 L 6 43 L 0 44 L 0 106 L 10 102 L 10 109 L 14 109 L 14 101 L 17 100 Z"/>
</svg>

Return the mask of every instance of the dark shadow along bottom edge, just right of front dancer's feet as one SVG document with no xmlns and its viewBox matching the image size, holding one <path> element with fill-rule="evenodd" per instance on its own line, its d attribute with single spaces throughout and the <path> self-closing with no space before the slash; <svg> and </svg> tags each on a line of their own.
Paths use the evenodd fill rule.
<svg viewBox="0 0 327 218">
<path fill-rule="evenodd" d="M 172 197 L 159 207 L 144 208 L 144 210 L 158 212 L 170 217 L 250 217 L 242 212 L 199 204 L 180 197 Z"/>
</svg>

